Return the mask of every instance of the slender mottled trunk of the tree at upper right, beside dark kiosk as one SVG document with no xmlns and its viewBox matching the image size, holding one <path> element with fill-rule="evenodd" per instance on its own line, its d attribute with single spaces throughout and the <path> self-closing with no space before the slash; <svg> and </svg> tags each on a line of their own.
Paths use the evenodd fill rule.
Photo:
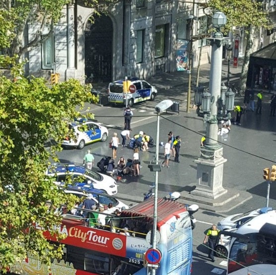
<svg viewBox="0 0 276 275">
<path fill-rule="evenodd" d="M 250 55 L 253 53 L 253 43 L 254 43 L 253 40 L 254 40 L 255 29 L 256 29 L 255 26 L 250 25 L 249 31 L 246 36 L 247 42 L 246 42 L 244 60 L 243 60 L 242 71 L 240 76 L 240 88 L 242 88 L 243 90 L 245 90 L 246 88 L 249 59 L 250 59 Z"/>
</svg>

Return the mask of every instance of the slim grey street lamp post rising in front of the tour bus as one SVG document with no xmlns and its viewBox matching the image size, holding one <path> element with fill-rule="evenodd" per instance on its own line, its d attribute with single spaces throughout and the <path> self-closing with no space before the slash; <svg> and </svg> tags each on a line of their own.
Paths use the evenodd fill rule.
<svg viewBox="0 0 276 275">
<path fill-rule="evenodd" d="M 165 99 L 155 106 L 157 113 L 157 127 L 156 127 L 156 151 L 155 151 L 155 163 L 150 163 L 148 168 L 150 171 L 155 172 L 155 184 L 154 184 L 154 209 L 153 209 L 153 226 L 152 226 L 152 248 L 156 249 L 157 239 L 157 201 L 158 201 L 158 172 L 161 171 L 161 164 L 159 163 L 159 125 L 160 125 L 160 114 L 166 111 L 173 105 L 171 100 Z M 155 275 L 155 268 L 152 268 L 151 275 Z"/>
</svg>

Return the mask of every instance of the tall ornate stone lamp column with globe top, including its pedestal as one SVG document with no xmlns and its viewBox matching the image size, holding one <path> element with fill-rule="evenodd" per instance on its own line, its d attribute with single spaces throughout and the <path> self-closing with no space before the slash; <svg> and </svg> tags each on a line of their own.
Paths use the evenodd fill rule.
<svg viewBox="0 0 276 275">
<path fill-rule="evenodd" d="M 209 38 L 212 46 L 209 93 L 203 93 L 202 98 L 202 110 L 205 112 L 204 121 L 206 122 L 206 144 L 201 147 L 200 157 L 195 160 L 198 164 L 198 183 L 196 189 L 191 191 L 192 195 L 212 200 L 227 193 L 227 190 L 222 187 L 223 163 L 227 160 L 223 158 L 222 146 L 217 142 L 217 114 L 221 105 L 222 45 L 226 42 L 220 28 L 226 24 L 226 21 L 224 13 L 217 11 L 213 14 L 212 24 L 216 32 Z"/>
</svg>

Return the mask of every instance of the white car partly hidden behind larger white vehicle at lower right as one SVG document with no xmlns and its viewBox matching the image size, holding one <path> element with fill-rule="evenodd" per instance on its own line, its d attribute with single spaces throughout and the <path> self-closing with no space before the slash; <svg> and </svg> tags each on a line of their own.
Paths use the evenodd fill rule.
<svg viewBox="0 0 276 275">
<path fill-rule="evenodd" d="M 256 209 L 254 211 L 249 211 L 246 213 L 239 213 L 227 216 L 217 223 L 217 229 L 219 230 L 229 230 L 233 228 L 239 228 L 245 222 L 251 220 L 252 218 L 267 213 L 271 211 L 272 207 L 263 207 Z"/>
</svg>

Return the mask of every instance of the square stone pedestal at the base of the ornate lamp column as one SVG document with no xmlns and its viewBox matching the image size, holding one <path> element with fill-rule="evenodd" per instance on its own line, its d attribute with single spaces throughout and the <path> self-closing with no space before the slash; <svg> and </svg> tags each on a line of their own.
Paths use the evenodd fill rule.
<svg viewBox="0 0 276 275">
<path fill-rule="evenodd" d="M 222 152 L 222 147 L 201 149 L 200 157 L 195 160 L 198 164 L 198 185 L 190 192 L 192 195 L 215 200 L 227 193 L 227 190 L 222 187 L 223 163 L 227 161 L 223 158 Z"/>
</svg>

